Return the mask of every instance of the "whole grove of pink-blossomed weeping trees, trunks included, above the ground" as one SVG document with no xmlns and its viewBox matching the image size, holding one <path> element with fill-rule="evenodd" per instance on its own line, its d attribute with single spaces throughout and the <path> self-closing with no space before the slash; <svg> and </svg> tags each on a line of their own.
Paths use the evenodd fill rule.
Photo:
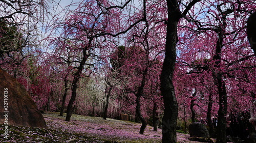
<svg viewBox="0 0 256 143">
<path fill-rule="evenodd" d="M 219 143 L 231 112 L 248 111 L 256 95 L 253 1 L 0 4 L 1 68 L 66 121 L 126 113 L 143 134 L 161 119 L 162 142 L 176 142 L 177 121 L 205 119 L 213 136 L 216 117 Z"/>
</svg>

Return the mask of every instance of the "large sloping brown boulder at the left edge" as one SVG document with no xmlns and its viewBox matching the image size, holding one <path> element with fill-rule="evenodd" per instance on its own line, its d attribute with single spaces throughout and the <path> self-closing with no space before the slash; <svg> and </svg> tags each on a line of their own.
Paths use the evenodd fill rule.
<svg viewBox="0 0 256 143">
<path fill-rule="evenodd" d="M 0 124 L 47 128 L 25 87 L 0 68 Z"/>
</svg>

